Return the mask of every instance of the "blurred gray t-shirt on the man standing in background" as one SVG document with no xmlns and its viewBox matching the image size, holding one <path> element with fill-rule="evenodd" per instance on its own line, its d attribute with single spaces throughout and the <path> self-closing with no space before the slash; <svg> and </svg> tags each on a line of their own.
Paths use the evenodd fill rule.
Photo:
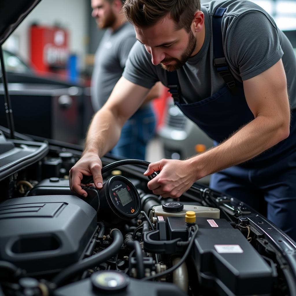
<svg viewBox="0 0 296 296">
<path fill-rule="evenodd" d="M 91 77 L 91 101 L 94 111 L 99 110 L 109 98 L 122 75 L 128 53 L 136 41 L 133 26 L 126 22 L 112 32 L 107 29 L 95 54 Z M 153 83 L 154 84 L 154 83 Z"/>
</svg>

